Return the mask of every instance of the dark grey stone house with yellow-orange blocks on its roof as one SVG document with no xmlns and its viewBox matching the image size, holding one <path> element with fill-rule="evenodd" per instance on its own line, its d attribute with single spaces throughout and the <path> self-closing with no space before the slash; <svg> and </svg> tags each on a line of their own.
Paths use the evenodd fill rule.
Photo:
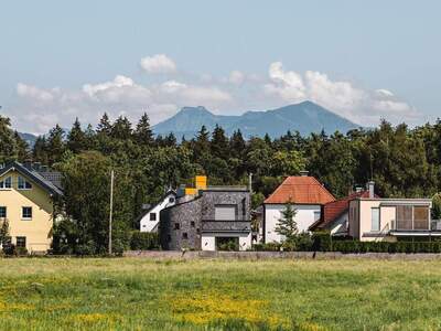
<svg viewBox="0 0 441 331">
<path fill-rule="evenodd" d="M 195 188 L 180 190 L 176 203 L 161 211 L 161 246 L 245 250 L 251 246 L 249 206 L 246 186 L 207 186 L 205 177 L 196 177 Z"/>
</svg>

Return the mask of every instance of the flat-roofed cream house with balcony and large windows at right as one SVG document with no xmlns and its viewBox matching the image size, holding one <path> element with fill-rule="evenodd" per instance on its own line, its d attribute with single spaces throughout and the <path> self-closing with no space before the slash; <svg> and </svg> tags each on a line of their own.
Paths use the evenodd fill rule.
<svg viewBox="0 0 441 331">
<path fill-rule="evenodd" d="M 348 235 L 362 242 L 441 236 L 439 221 L 431 221 L 430 199 L 358 196 L 349 201 Z"/>
</svg>

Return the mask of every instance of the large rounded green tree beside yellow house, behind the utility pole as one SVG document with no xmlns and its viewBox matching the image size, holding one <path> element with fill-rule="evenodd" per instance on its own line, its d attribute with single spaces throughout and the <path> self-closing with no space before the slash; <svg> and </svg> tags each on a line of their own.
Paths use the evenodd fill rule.
<svg viewBox="0 0 441 331">
<path fill-rule="evenodd" d="M 72 239 L 72 250 L 77 254 L 106 252 L 110 169 L 115 169 L 112 239 L 119 249 L 127 247 L 133 220 L 130 168 L 115 168 L 108 157 L 96 151 L 73 156 L 58 164 L 64 174 L 63 205 L 66 217 L 63 220 L 63 226 L 55 227 L 56 237 L 75 236 Z"/>
</svg>

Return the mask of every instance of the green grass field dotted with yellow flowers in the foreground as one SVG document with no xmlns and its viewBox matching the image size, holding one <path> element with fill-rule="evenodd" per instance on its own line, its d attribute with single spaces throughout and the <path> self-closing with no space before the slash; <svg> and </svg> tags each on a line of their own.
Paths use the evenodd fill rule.
<svg viewBox="0 0 441 331">
<path fill-rule="evenodd" d="M 0 259 L 0 330 L 435 330 L 441 263 Z"/>
</svg>

